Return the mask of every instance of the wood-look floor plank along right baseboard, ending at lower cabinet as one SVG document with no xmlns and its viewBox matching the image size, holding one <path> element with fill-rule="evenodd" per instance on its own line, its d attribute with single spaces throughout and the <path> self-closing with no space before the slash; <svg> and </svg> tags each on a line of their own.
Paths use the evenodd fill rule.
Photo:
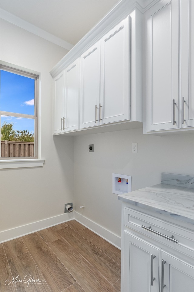
<svg viewBox="0 0 194 292">
<path fill-rule="evenodd" d="M 121 264 L 121 251 L 114 245 L 110 244 L 108 241 L 98 236 L 88 228 L 78 231 L 78 233 L 88 240 L 90 243 L 99 248 L 104 252 L 109 258 L 115 261 L 119 266 Z"/>
</svg>

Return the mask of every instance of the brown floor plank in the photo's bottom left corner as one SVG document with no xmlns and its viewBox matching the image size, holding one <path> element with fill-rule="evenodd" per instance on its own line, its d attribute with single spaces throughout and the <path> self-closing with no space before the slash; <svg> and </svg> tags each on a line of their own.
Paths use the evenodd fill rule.
<svg viewBox="0 0 194 292">
<path fill-rule="evenodd" d="M 15 286 L 9 284 L 12 281 L 12 273 L 8 265 L 7 257 L 4 252 L 3 244 L 0 245 L 0 291 L 17 292 Z M 6 281 L 9 280 L 9 281 Z M 6 281 L 6 282 L 5 282 Z M 9 285 L 8 285 L 9 284 Z M 10 286 L 11 285 L 11 286 Z"/>
</svg>

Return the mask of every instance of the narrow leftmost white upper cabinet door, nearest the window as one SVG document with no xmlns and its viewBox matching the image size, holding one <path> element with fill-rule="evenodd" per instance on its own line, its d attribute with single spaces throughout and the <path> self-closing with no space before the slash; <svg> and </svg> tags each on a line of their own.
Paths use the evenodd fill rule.
<svg viewBox="0 0 194 292">
<path fill-rule="evenodd" d="M 64 121 L 64 71 L 53 80 L 53 134 L 63 133 Z"/>
</svg>

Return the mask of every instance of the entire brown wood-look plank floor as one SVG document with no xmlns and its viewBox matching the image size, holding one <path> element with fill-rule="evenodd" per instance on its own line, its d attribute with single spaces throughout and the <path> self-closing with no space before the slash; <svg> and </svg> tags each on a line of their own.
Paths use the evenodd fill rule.
<svg viewBox="0 0 194 292">
<path fill-rule="evenodd" d="M 7 241 L 1 292 L 118 292 L 118 248 L 72 220 Z"/>
</svg>

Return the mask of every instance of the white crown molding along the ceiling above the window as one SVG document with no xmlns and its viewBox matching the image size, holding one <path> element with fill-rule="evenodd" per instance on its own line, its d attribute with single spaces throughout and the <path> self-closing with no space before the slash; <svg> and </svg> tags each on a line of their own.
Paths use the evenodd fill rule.
<svg viewBox="0 0 194 292">
<path fill-rule="evenodd" d="M 51 33 L 48 33 L 45 30 L 42 30 L 41 28 L 19 18 L 18 16 L 15 16 L 9 12 L 7 12 L 4 9 L 1 9 L 1 14 L 0 14 L 0 18 L 15 24 L 16 26 L 19 26 L 21 28 L 23 28 L 24 30 L 27 30 L 31 33 L 34 33 L 35 35 L 42 37 L 45 40 L 49 40 L 50 42 L 52 42 L 53 44 L 56 44 L 60 47 L 63 47 L 64 49 L 70 51 L 74 45 L 66 42 L 65 40 L 62 40 L 59 37 L 54 36 Z"/>
</svg>

